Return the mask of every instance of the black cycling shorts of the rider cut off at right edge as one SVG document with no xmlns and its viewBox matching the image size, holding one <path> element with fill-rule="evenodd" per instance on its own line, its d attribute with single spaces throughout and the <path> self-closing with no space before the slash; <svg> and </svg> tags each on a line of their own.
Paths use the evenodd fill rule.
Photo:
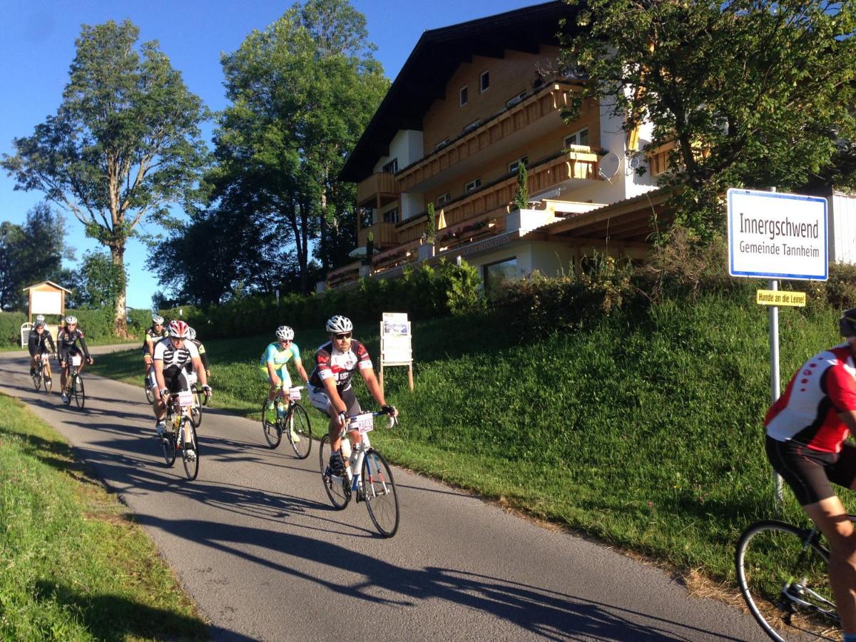
<svg viewBox="0 0 856 642">
<path fill-rule="evenodd" d="M 780 442 L 767 437 L 767 459 L 782 475 L 800 506 L 834 496 L 833 484 L 851 488 L 856 479 L 856 445 L 844 443 L 840 453 L 810 449 L 794 440 Z"/>
</svg>

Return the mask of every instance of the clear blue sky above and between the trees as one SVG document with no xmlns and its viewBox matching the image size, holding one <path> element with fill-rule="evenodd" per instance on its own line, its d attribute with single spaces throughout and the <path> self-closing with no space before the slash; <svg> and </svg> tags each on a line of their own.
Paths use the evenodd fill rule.
<svg viewBox="0 0 856 642">
<path fill-rule="evenodd" d="M 352 0 L 366 15 L 375 56 L 390 79 L 395 79 L 419 36 L 426 29 L 494 15 L 538 4 L 537 0 Z M 282 15 L 290 2 L 271 0 L 48 0 L 3 3 L 0 12 L 0 153 L 12 153 L 15 137 L 33 134 L 46 116 L 56 113 L 68 65 L 74 58 L 74 39 L 81 24 L 130 19 L 140 27 L 140 40 L 158 40 L 173 67 L 180 70 L 191 92 L 211 109 L 223 109 L 223 72 L 220 53 L 235 51 L 253 29 L 264 29 Z M 206 137 L 211 128 L 205 128 Z M 210 142 L 210 140 L 209 140 Z M 14 191 L 15 183 L 0 171 L 0 221 L 22 223 L 27 211 L 43 198 L 39 192 Z M 66 240 L 80 258 L 98 244 L 87 239 L 83 226 L 66 213 Z M 144 223 L 144 225 L 146 225 Z M 146 225 L 147 231 L 157 228 Z M 146 270 L 146 248 L 130 241 L 128 305 L 149 307 L 158 289 L 157 278 Z"/>
</svg>

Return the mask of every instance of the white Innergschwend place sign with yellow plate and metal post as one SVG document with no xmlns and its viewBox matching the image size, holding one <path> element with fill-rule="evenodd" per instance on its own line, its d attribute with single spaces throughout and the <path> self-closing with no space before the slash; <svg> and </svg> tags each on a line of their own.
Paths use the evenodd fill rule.
<svg viewBox="0 0 856 642">
<path fill-rule="evenodd" d="M 829 229 L 826 199 L 800 194 L 728 190 L 728 274 L 769 278 L 770 293 L 778 279 L 826 281 L 829 278 Z M 770 305 L 770 400 L 781 389 L 779 372 L 779 305 L 800 305 L 773 294 L 758 293 L 758 303 Z M 805 301 L 803 295 L 801 300 Z M 771 303 L 771 304 L 770 304 Z M 782 478 L 776 479 L 776 499 L 782 502 Z"/>
</svg>

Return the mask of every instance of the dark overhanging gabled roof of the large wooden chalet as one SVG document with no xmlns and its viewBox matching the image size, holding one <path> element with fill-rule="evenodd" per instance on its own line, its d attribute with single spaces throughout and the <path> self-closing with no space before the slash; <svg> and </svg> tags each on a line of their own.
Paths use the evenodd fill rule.
<svg viewBox="0 0 856 642">
<path fill-rule="evenodd" d="M 501 58 L 504 50 L 537 54 L 541 45 L 557 46 L 559 21 L 571 15 L 566 3 L 550 2 L 422 33 L 339 178 L 362 181 L 377 159 L 389 154 L 398 130 L 421 130 L 425 113 L 445 98 L 446 83 L 461 62 L 473 56 Z"/>
</svg>

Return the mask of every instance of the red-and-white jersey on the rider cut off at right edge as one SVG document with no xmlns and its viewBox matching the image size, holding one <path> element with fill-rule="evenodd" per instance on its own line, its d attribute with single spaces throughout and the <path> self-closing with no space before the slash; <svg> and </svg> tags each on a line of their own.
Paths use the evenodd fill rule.
<svg viewBox="0 0 856 642">
<path fill-rule="evenodd" d="M 856 410 L 856 365 L 847 343 L 815 354 L 800 367 L 764 419 L 767 435 L 810 449 L 841 452 L 847 425 L 838 413 Z"/>
</svg>

